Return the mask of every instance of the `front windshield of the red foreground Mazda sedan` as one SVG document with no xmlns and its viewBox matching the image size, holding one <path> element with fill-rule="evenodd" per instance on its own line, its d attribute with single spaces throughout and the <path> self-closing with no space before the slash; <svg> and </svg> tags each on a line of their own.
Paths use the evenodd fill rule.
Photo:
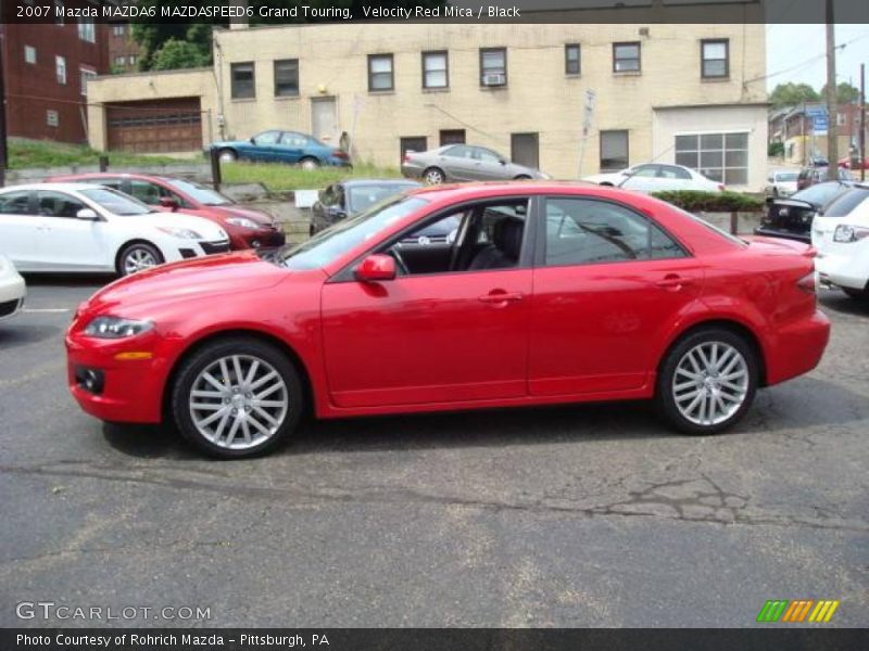
<svg viewBox="0 0 869 651">
<path fill-rule="evenodd" d="M 387 199 L 320 231 L 307 242 L 281 248 L 276 259 L 288 269 L 319 269 L 426 204 L 427 201 L 416 196 Z"/>
</svg>

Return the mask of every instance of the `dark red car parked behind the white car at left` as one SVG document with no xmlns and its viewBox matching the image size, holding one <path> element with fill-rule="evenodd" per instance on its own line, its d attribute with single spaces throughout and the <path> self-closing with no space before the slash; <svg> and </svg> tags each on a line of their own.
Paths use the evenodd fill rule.
<svg viewBox="0 0 869 651">
<path fill-rule="evenodd" d="M 185 179 L 141 174 L 75 174 L 58 176 L 51 182 L 98 183 L 119 190 L 139 201 L 184 215 L 204 217 L 217 224 L 229 235 L 234 250 L 282 246 L 287 241 L 270 215 L 239 206 L 215 190 Z"/>
</svg>

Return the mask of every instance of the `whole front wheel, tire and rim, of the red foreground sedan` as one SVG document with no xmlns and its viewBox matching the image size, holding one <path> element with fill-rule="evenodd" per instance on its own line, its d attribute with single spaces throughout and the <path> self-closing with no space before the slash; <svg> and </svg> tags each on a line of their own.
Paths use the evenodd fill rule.
<svg viewBox="0 0 869 651">
<path fill-rule="evenodd" d="M 172 412 L 184 437 L 224 459 L 274 449 L 299 424 L 302 385 L 275 346 L 249 337 L 221 340 L 178 371 Z"/>
</svg>

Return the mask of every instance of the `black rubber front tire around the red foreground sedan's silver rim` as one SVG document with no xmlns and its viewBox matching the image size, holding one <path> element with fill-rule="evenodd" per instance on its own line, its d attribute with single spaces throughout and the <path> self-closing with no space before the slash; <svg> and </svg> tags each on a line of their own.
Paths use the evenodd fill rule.
<svg viewBox="0 0 869 651">
<path fill-rule="evenodd" d="M 193 409 L 190 405 L 190 400 L 192 399 L 191 392 L 193 391 L 194 384 L 200 379 L 200 374 L 222 358 L 231 357 L 234 355 L 243 356 L 249 359 L 252 358 L 261 363 L 265 362 L 265 365 L 270 366 L 272 369 L 278 373 L 280 380 L 284 381 L 287 399 L 286 411 L 275 432 L 259 444 L 240 449 L 217 445 L 210 441 L 193 422 L 193 416 L 191 413 Z M 231 366 L 228 368 L 231 369 Z M 230 374 L 234 372 L 235 371 L 230 370 Z M 242 374 L 244 373 L 242 372 Z M 302 418 L 302 412 L 304 411 L 302 382 L 293 362 L 288 358 L 286 353 L 276 346 L 247 336 L 232 336 L 214 341 L 204 345 L 192 356 L 184 360 L 181 367 L 178 369 L 171 395 L 172 419 L 175 426 L 181 433 L 181 436 L 201 451 L 219 459 L 241 459 L 264 455 L 274 450 L 295 431 Z M 226 403 L 227 398 L 224 398 L 222 401 Z M 217 404 L 219 403 L 221 400 L 218 400 Z M 229 407 L 227 406 L 226 409 L 229 409 Z M 232 413 L 235 413 L 235 411 Z M 226 418 L 226 424 L 228 425 L 229 421 L 231 421 L 231 416 L 227 416 Z M 221 420 L 223 420 L 223 417 Z M 251 430 L 251 432 L 255 432 L 255 430 Z M 217 438 L 221 438 L 219 432 Z M 239 444 L 244 445 L 244 442 L 239 442 Z"/>
</svg>

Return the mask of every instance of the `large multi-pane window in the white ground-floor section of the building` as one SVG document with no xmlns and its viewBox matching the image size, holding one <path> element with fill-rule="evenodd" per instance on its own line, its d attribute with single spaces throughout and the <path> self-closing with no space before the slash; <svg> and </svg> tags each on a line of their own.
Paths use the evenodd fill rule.
<svg viewBox="0 0 869 651">
<path fill-rule="evenodd" d="M 748 133 L 687 133 L 676 137 L 676 164 L 727 186 L 748 183 Z"/>
</svg>

